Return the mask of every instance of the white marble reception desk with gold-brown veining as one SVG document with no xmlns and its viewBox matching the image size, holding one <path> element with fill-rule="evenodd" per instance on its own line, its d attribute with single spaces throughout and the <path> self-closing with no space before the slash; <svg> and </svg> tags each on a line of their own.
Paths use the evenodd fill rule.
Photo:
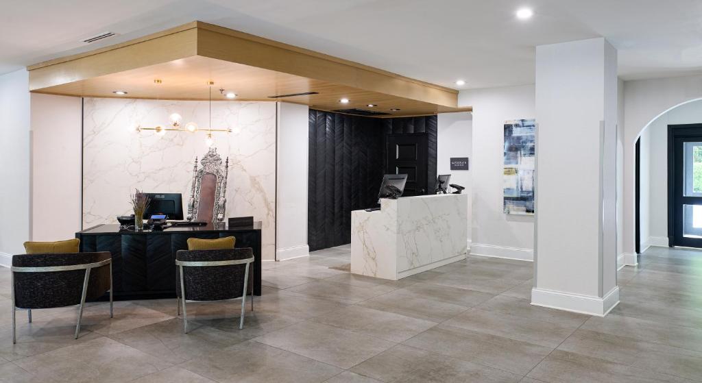
<svg viewBox="0 0 702 383">
<path fill-rule="evenodd" d="M 351 212 L 351 272 L 391 279 L 465 259 L 468 195 L 383 199 Z"/>
</svg>

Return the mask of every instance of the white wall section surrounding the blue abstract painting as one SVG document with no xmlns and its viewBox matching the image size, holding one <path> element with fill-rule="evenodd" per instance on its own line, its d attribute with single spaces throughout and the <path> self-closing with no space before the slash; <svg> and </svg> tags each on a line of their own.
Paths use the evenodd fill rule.
<svg viewBox="0 0 702 383">
<path fill-rule="evenodd" d="M 458 105 L 473 107 L 470 253 L 533 260 L 534 217 L 503 213 L 503 126 L 536 117 L 534 85 L 461 90 Z"/>
</svg>

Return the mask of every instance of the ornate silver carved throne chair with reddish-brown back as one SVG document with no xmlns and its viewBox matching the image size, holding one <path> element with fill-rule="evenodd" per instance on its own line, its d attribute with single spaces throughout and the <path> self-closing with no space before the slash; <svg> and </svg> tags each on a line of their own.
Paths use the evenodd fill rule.
<svg viewBox="0 0 702 383">
<path fill-rule="evenodd" d="M 222 157 L 211 147 L 197 166 L 192 168 L 190 201 L 187 203 L 187 220 L 223 222 L 227 207 L 227 175 L 229 157 L 222 166 Z"/>
</svg>

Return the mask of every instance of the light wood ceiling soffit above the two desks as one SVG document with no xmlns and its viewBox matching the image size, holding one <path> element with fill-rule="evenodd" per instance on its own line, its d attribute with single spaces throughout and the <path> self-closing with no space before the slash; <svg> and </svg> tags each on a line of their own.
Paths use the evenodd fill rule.
<svg viewBox="0 0 702 383">
<path fill-rule="evenodd" d="M 214 81 L 213 100 L 224 100 L 221 87 L 237 93 L 236 100 L 360 108 L 387 117 L 472 110 L 457 107 L 458 91 L 451 88 L 198 21 L 27 70 L 30 91 L 55 95 L 120 97 L 112 92 L 126 90 L 121 97 L 208 100 L 206 84 Z M 319 94 L 270 98 L 303 92 Z"/>
</svg>

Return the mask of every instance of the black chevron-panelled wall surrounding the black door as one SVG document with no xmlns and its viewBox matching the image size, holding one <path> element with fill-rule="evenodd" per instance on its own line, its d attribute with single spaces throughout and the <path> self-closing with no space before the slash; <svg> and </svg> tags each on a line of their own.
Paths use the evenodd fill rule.
<svg viewBox="0 0 702 383">
<path fill-rule="evenodd" d="M 436 116 L 373 119 L 310 109 L 309 122 L 310 251 L 350 243 L 351 210 L 376 206 L 386 135 L 428 133 L 429 184 L 436 180 Z"/>
</svg>

